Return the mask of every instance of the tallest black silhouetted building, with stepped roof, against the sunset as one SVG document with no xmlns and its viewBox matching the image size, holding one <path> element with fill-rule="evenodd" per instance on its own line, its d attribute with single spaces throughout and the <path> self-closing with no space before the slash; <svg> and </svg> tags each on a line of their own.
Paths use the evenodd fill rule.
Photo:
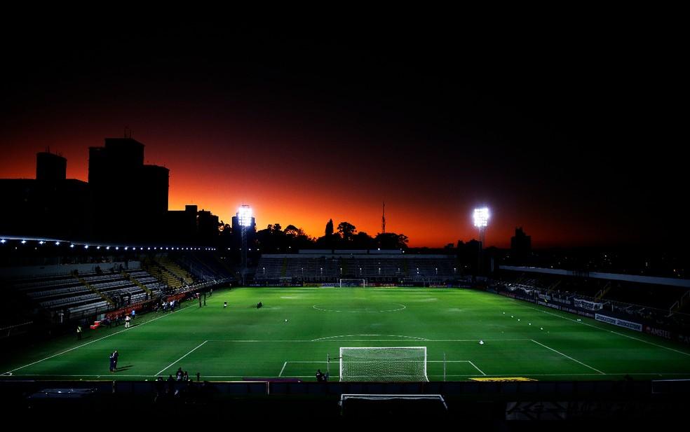
<svg viewBox="0 0 690 432">
<path fill-rule="evenodd" d="M 93 193 L 97 239 L 159 240 L 168 211 L 170 172 L 144 165 L 144 144 L 106 138 L 90 147 L 88 181 Z"/>
</svg>

